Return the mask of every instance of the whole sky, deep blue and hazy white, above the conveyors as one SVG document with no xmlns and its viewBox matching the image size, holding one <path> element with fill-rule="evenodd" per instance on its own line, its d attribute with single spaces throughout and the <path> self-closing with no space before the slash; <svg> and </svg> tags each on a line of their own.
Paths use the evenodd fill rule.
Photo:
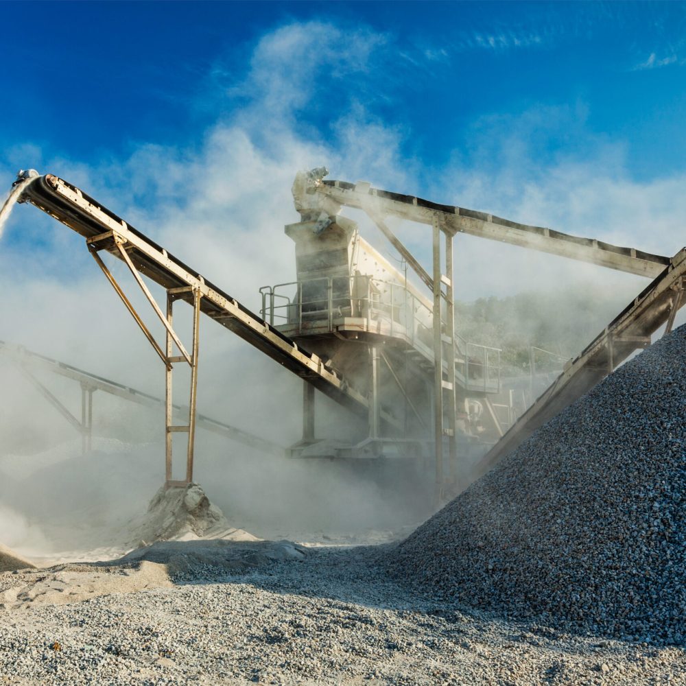
<svg viewBox="0 0 686 686">
<path fill-rule="evenodd" d="M 685 3 L 2 10 L 5 186 L 20 167 L 58 174 L 249 307 L 259 286 L 293 278 L 290 186 L 322 164 L 332 178 L 662 254 L 686 244 Z M 397 230 L 427 254 L 423 229 Z M 457 272 L 467 299 L 592 281 L 628 301 L 645 285 L 470 237 Z M 94 349 L 131 333 L 126 313 L 100 311 L 111 294 L 80 238 L 33 209 L 12 215 L 0 287 L 15 294 L 0 307 L 14 340 L 36 347 L 71 322 L 52 340 L 65 359 L 79 327 L 100 336 Z M 113 352 L 113 368 L 124 358 Z"/>
</svg>

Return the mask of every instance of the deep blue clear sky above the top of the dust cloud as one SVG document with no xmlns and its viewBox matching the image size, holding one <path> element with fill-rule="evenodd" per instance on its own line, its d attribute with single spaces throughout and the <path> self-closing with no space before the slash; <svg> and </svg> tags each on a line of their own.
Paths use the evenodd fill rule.
<svg viewBox="0 0 686 686">
<path fill-rule="evenodd" d="M 475 128 L 509 128 L 543 106 L 569 113 L 536 132 L 543 163 L 598 138 L 621 146 L 639 179 L 684 158 L 676 2 L 3 3 L 0 145 L 31 141 L 84 163 L 141 143 L 197 145 L 255 97 L 246 77 L 259 41 L 308 22 L 332 27 L 319 65 L 316 46 L 300 53 L 316 83 L 291 114 L 308 135 L 327 139 L 357 104 L 403 132 L 403 154 L 441 167 L 497 154 L 498 141 L 475 149 Z M 336 64 L 346 34 L 368 43 L 358 62 Z"/>
</svg>

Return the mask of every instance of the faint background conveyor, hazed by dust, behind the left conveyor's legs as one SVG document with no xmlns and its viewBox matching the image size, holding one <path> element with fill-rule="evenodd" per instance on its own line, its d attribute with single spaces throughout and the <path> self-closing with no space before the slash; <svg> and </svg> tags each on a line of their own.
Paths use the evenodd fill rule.
<svg viewBox="0 0 686 686">
<path fill-rule="evenodd" d="M 86 384 L 88 388 L 102 390 L 110 395 L 123 398 L 126 401 L 137 403 L 137 405 L 162 409 L 165 405 L 163 399 L 156 398 L 154 395 L 137 390 L 136 388 L 131 388 L 130 386 L 124 386 L 123 383 L 117 383 L 117 381 L 99 377 L 95 374 L 91 374 L 91 372 L 86 372 L 83 369 L 71 366 L 71 364 L 67 364 L 66 362 L 60 362 L 57 359 L 39 355 L 38 353 L 29 351 L 21 346 L 14 346 L 7 344 L 4 341 L 0 341 L 0 353 L 5 353 L 5 355 L 8 355 L 10 359 L 17 364 L 28 364 L 35 368 L 43 368 L 52 374 L 79 381 L 80 383 Z M 178 413 L 188 412 L 188 409 L 181 405 L 174 405 L 174 410 Z M 196 416 L 196 424 L 198 427 L 202 427 L 207 431 L 212 431 L 214 434 L 219 434 L 229 440 L 235 440 L 243 445 L 260 450 L 263 453 L 271 453 L 272 455 L 279 457 L 285 455 L 285 449 L 276 445 L 276 443 L 250 434 L 243 429 L 238 429 L 237 427 L 233 427 L 224 422 L 217 421 L 204 414 L 198 413 Z"/>
</svg>

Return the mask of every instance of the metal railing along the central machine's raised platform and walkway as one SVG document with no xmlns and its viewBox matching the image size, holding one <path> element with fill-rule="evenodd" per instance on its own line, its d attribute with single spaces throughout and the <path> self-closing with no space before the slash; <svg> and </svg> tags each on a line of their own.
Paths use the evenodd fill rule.
<svg viewBox="0 0 686 686">
<path fill-rule="evenodd" d="M 269 324 L 290 325 L 298 333 L 311 331 L 314 324 L 323 325 L 331 333 L 345 318 L 362 319 L 366 331 L 379 331 L 381 324 L 379 333 L 404 338 L 433 359 L 433 311 L 400 283 L 360 275 L 320 276 L 263 286 L 259 292 L 260 315 Z M 456 373 L 462 385 L 469 390 L 499 391 L 501 350 L 454 335 Z"/>
</svg>

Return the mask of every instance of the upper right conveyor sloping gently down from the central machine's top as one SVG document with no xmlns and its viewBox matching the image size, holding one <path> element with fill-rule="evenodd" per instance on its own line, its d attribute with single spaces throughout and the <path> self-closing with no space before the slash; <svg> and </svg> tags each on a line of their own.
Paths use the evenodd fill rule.
<svg viewBox="0 0 686 686">
<path fill-rule="evenodd" d="M 330 213 L 338 204 L 380 215 L 391 214 L 422 224 L 431 224 L 438 213 L 445 221 L 445 227 L 454 233 L 467 233 L 651 278 L 660 274 L 670 262 L 669 257 L 663 255 L 613 246 L 543 226 L 519 224 L 486 212 L 382 191 L 366 183 L 355 185 L 346 181 L 318 180 L 314 182 L 313 189 L 331 201 L 327 206 Z"/>
</svg>

